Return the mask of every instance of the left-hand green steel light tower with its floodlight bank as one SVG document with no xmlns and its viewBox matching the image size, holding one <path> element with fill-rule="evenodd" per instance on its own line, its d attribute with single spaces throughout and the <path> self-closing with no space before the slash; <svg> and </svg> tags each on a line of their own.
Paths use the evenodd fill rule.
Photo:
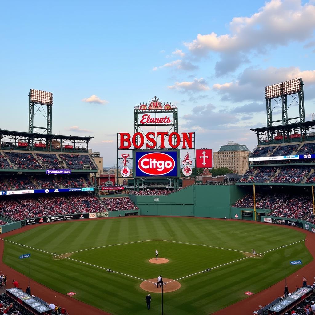
<svg viewBox="0 0 315 315">
<path fill-rule="evenodd" d="M 37 133 L 36 129 L 43 129 L 43 134 L 52 134 L 52 106 L 53 106 L 53 94 L 51 92 L 30 89 L 29 96 L 29 111 L 28 111 L 28 132 Z M 46 106 L 46 111 L 44 107 Z M 34 112 L 35 107 L 35 112 Z M 42 114 L 46 120 L 46 126 L 34 126 L 34 116 L 36 114 Z M 34 131 L 35 129 L 35 131 Z"/>
</svg>

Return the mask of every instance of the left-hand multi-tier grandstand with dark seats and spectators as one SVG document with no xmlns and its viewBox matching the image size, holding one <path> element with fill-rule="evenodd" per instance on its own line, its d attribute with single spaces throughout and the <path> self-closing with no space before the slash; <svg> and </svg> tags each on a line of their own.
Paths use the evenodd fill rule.
<svg viewBox="0 0 315 315">
<path fill-rule="evenodd" d="M 20 221 L 104 211 L 90 179 L 98 171 L 88 153 L 92 138 L 0 129 L 1 216 Z"/>
</svg>

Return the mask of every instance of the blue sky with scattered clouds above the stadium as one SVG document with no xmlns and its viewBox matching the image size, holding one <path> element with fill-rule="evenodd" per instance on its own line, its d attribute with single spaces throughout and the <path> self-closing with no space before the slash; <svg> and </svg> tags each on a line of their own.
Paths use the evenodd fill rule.
<svg viewBox="0 0 315 315">
<path fill-rule="evenodd" d="M 7 1 L 1 11 L 0 128 L 27 131 L 29 89 L 53 92 L 53 133 L 93 135 L 104 165 L 116 163 L 117 132 L 133 130 L 135 104 L 155 95 L 213 150 L 254 148 L 266 85 L 302 77 L 306 119 L 315 112 L 314 0 Z"/>
</svg>

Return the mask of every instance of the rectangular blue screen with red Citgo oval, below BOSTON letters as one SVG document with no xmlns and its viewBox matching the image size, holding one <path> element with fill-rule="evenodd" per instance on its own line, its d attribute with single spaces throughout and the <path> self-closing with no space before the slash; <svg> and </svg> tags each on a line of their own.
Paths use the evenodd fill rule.
<svg viewBox="0 0 315 315">
<path fill-rule="evenodd" d="M 177 177 L 177 151 L 135 152 L 135 177 Z"/>
</svg>

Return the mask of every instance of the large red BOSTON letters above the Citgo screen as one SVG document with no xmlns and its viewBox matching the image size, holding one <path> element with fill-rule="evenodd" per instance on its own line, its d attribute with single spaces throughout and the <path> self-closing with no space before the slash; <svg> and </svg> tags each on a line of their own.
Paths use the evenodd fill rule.
<svg viewBox="0 0 315 315">
<path fill-rule="evenodd" d="M 133 146 L 135 149 L 146 148 L 165 149 L 165 142 L 167 141 L 169 146 L 173 149 L 193 149 L 192 141 L 194 132 L 182 132 L 181 135 L 178 132 L 148 132 L 145 135 L 141 132 L 136 132 L 131 136 L 128 132 L 120 132 L 120 146 L 119 149 L 130 149 Z M 157 143 L 156 138 L 160 143 Z M 167 139 L 167 140 L 166 140 Z M 146 140 L 146 145 L 145 145 Z"/>
</svg>

